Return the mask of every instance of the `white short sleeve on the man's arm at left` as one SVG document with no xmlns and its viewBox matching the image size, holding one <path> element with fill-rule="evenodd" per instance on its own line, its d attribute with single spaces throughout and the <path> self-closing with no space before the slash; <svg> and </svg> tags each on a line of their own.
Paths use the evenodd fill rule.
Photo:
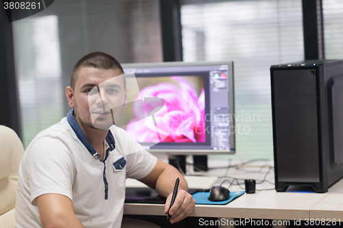
<svg viewBox="0 0 343 228">
<path fill-rule="evenodd" d="M 67 145 L 51 138 L 39 138 L 29 148 L 27 173 L 31 202 L 42 194 L 62 194 L 72 199 L 74 165 Z"/>
</svg>

